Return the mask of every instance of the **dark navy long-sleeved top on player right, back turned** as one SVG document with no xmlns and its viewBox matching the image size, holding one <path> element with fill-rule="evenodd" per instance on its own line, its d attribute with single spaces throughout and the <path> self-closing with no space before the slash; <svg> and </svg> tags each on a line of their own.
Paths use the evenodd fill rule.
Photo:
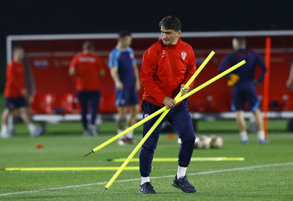
<svg viewBox="0 0 293 201">
<path fill-rule="evenodd" d="M 253 81 L 256 64 L 262 68 L 262 72 L 258 78 L 258 83 L 262 82 L 266 71 L 265 63 L 260 55 L 253 50 L 239 49 L 232 52 L 220 63 L 218 71 L 222 73 L 226 70 L 228 65 L 234 66 L 242 60 L 245 60 L 246 63 L 231 72 L 239 75 L 240 77 L 240 80 L 236 83 L 236 85 L 246 81 Z"/>
</svg>

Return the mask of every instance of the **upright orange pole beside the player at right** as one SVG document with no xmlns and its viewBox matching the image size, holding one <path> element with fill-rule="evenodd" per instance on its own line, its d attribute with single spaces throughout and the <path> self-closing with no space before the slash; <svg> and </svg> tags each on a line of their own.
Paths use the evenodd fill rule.
<svg viewBox="0 0 293 201">
<path fill-rule="evenodd" d="M 264 79 L 263 89 L 263 128 L 265 131 L 265 138 L 268 137 L 268 110 L 269 110 L 269 82 L 270 82 L 270 57 L 271 57 L 271 38 L 265 39 L 265 66 L 267 71 Z"/>
</svg>

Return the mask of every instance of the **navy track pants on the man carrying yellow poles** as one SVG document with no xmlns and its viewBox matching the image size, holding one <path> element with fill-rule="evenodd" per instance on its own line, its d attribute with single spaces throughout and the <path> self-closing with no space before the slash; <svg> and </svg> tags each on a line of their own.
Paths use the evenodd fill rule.
<svg viewBox="0 0 293 201">
<path fill-rule="evenodd" d="M 188 99 L 172 108 L 168 114 L 163 118 L 161 123 L 156 127 L 152 134 L 142 145 L 139 154 L 139 170 L 143 177 L 148 177 L 151 172 L 151 162 L 153 160 L 154 150 L 157 147 L 159 133 L 164 122 L 168 121 L 174 128 L 179 138 L 181 138 L 181 147 L 178 154 L 178 163 L 181 167 L 187 167 L 193 153 L 195 134 L 191 121 L 190 114 L 187 109 Z M 146 100 L 142 101 L 142 115 L 143 118 L 153 114 L 162 107 L 149 103 Z M 162 114 L 162 113 L 161 113 Z M 143 136 L 151 129 L 155 122 L 159 119 L 161 114 L 144 123 Z"/>
</svg>

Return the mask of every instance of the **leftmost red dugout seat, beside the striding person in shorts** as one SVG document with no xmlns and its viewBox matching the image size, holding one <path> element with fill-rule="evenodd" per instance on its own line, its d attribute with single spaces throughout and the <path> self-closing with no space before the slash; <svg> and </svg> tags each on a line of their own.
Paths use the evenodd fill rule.
<svg viewBox="0 0 293 201">
<path fill-rule="evenodd" d="M 30 113 L 44 114 L 52 110 L 52 94 L 36 94 L 30 97 Z"/>
</svg>

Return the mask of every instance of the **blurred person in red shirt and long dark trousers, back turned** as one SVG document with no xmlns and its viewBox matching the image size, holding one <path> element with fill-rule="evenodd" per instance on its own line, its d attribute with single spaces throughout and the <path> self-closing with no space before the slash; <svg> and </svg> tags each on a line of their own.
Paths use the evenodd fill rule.
<svg viewBox="0 0 293 201">
<path fill-rule="evenodd" d="M 84 136 L 98 135 L 95 121 L 100 100 L 99 77 L 105 75 L 103 60 L 93 54 L 94 48 L 90 41 L 85 41 L 82 46 L 83 52 L 74 56 L 69 68 L 69 74 L 76 77 L 76 90 L 81 105 Z M 91 112 L 89 128 L 86 118 L 88 103 Z"/>
</svg>

